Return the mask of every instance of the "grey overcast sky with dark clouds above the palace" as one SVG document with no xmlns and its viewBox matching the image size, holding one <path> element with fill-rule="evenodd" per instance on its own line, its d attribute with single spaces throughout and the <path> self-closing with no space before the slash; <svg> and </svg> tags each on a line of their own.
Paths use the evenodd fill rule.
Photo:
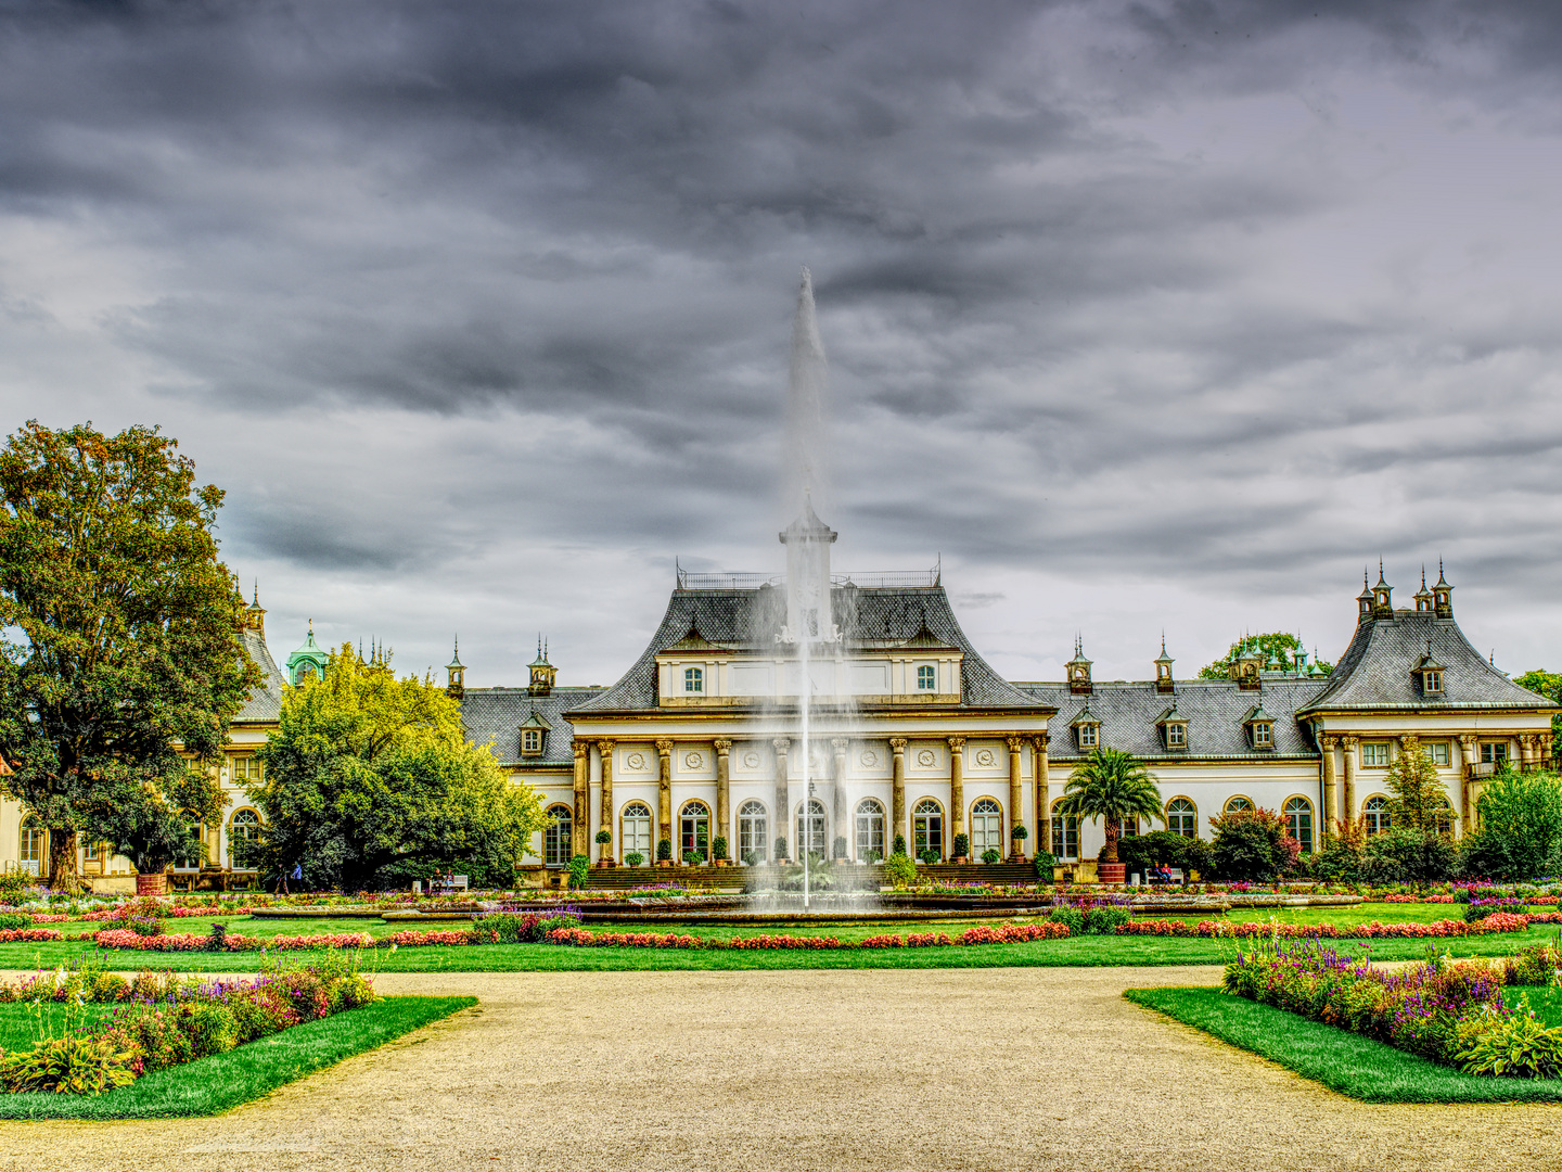
<svg viewBox="0 0 1562 1172">
<path fill-rule="evenodd" d="M 0 395 L 159 423 L 278 658 L 611 683 L 779 570 L 798 270 L 836 567 L 1012 678 L 1326 659 L 1382 556 L 1562 667 L 1562 6 L 0 3 Z"/>
</svg>

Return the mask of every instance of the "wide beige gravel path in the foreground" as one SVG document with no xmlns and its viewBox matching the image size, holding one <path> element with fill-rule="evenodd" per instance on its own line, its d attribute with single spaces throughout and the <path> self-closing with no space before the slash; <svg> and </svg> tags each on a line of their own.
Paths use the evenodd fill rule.
<svg viewBox="0 0 1562 1172">
<path fill-rule="evenodd" d="M 1118 995 L 1217 969 L 383 974 L 478 1009 L 219 1119 L 0 1124 L 28 1169 L 1553 1167 L 1562 1109 L 1365 1106 Z"/>
</svg>

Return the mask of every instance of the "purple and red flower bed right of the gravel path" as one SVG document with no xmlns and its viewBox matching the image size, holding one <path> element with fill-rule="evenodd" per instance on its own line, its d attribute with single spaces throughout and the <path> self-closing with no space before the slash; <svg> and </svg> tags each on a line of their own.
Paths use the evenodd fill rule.
<svg viewBox="0 0 1562 1172">
<path fill-rule="evenodd" d="M 1557 964 L 1557 952 L 1539 945 L 1498 966 L 1442 959 L 1384 972 L 1315 941 L 1275 942 L 1239 953 L 1221 988 L 1465 1074 L 1556 1077 L 1562 1030 L 1543 1028 L 1528 1008 L 1512 1013 L 1501 989 L 1550 981 Z"/>
</svg>

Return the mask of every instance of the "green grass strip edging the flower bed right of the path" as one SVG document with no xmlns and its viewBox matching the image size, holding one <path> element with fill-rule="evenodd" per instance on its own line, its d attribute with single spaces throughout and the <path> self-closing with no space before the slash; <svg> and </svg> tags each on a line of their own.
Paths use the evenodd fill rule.
<svg viewBox="0 0 1562 1172">
<path fill-rule="evenodd" d="M 1212 988 L 1123 997 L 1367 1103 L 1559 1103 L 1562 1080 L 1478 1078 L 1350 1030 Z"/>
</svg>

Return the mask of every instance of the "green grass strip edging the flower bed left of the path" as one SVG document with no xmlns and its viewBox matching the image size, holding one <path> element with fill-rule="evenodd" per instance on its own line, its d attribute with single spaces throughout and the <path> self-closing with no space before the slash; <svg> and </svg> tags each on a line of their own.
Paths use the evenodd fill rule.
<svg viewBox="0 0 1562 1172">
<path fill-rule="evenodd" d="M 105 1095 L 0 1094 L 0 1119 L 155 1119 L 214 1116 L 355 1053 L 373 1050 L 476 1005 L 476 997 L 386 997 L 261 1038 L 228 1053 L 170 1066 Z"/>
</svg>

